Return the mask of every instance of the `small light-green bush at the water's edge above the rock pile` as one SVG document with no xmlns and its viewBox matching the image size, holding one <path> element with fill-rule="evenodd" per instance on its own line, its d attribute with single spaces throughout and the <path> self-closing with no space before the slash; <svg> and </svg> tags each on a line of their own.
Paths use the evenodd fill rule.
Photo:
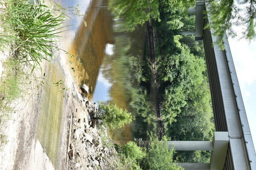
<svg viewBox="0 0 256 170">
<path fill-rule="evenodd" d="M 121 128 L 134 120 L 134 116 L 127 110 L 124 111 L 117 105 L 104 105 L 103 103 L 99 104 L 99 116 L 96 118 L 101 119 L 104 125 L 113 129 Z"/>
</svg>

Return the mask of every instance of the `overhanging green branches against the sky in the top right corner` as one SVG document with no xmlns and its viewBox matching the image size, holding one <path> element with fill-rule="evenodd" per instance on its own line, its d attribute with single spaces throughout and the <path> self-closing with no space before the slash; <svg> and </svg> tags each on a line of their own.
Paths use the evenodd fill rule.
<svg viewBox="0 0 256 170">
<path fill-rule="evenodd" d="M 244 7 L 245 8 L 242 8 Z M 236 36 L 232 26 L 244 26 L 243 36 L 248 40 L 256 37 L 256 1 L 255 0 L 212 0 L 209 6 L 211 23 L 208 27 L 215 30 L 214 34 L 219 36 L 218 44 L 224 49 L 222 38 Z M 244 14 L 245 13 L 245 14 Z"/>
</svg>

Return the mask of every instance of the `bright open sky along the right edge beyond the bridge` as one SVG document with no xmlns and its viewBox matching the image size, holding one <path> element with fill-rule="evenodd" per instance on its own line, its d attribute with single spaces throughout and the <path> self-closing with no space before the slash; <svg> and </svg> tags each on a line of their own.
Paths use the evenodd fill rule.
<svg viewBox="0 0 256 170">
<path fill-rule="evenodd" d="M 242 28 L 234 28 L 241 37 Z M 256 40 L 229 38 L 250 131 L 256 147 Z"/>
</svg>

